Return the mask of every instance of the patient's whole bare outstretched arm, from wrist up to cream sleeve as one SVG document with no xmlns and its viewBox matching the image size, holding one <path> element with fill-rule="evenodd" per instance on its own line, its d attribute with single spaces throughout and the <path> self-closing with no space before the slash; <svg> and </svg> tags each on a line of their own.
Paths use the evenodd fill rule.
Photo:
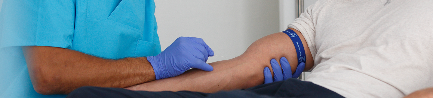
<svg viewBox="0 0 433 98">
<path fill-rule="evenodd" d="M 307 62 L 305 70 L 313 67 L 313 57 L 302 34 L 293 29 L 304 45 Z M 269 67 L 275 58 L 278 63 L 286 57 L 291 65 L 292 73 L 297 67 L 297 54 L 293 42 L 284 33 L 275 33 L 252 43 L 240 56 L 210 63 L 214 70 L 207 72 L 199 69 L 188 70 L 177 76 L 155 80 L 125 89 L 142 91 L 196 91 L 217 92 L 220 90 L 247 89 L 264 83 L 263 69 Z M 272 73 L 273 74 L 273 73 Z"/>
</svg>

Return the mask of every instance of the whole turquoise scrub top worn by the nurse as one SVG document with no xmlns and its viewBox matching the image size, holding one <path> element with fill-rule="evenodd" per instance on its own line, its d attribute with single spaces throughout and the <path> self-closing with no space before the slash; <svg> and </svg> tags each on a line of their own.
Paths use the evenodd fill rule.
<svg viewBox="0 0 433 98">
<path fill-rule="evenodd" d="M 158 55 L 153 0 L 3 0 L 0 98 L 35 92 L 20 46 L 53 46 L 107 59 Z"/>
</svg>

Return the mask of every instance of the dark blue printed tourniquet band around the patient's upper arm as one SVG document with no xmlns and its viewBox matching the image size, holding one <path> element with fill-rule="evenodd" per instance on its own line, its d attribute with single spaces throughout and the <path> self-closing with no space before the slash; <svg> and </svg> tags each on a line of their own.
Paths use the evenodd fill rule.
<svg viewBox="0 0 433 98">
<path fill-rule="evenodd" d="M 304 45 L 302 45 L 302 41 L 299 38 L 299 36 L 295 33 L 295 31 L 293 30 L 286 30 L 286 31 L 282 31 L 283 33 L 287 34 L 290 39 L 292 40 L 293 44 L 295 45 L 295 49 L 296 49 L 296 54 L 298 57 L 298 65 L 301 62 L 305 63 L 305 50 L 304 50 Z"/>
</svg>

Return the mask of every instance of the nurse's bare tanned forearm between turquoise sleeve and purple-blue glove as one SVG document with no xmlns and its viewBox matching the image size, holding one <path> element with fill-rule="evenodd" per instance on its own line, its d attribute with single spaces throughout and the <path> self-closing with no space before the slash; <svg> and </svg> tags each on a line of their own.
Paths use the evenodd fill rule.
<svg viewBox="0 0 433 98">
<path fill-rule="evenodd" d="M 155 80 L 145 57 L 110 60 L 58 47 L 22 48 L 32 85 L 43 95 L 68 94 L 81 86 L 125 88 Z"/>
</svg>

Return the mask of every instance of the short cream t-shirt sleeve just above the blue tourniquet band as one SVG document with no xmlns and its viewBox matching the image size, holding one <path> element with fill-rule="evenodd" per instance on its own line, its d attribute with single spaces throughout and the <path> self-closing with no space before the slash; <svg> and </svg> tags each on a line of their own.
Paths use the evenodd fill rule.
<svg viewBox="0 0 433 98">
<path fill-rule="evenodd" d="M 305 9 L 305 12 L 302 13 L 299 18 L 296 18 L 293 23 L 288 25 L 288 28 L 294 28 L 301 32 L 301 34 L 304 36 L 305 41 L 307 41 L 308 48 L 310 48 L 311 55 L 313 56 L 313 61 L 316 58 L 317 54 L 315 28 L 315 21 L 317 20 L 317 15 L 315 15 L 314 12 L 316 12 L 315 9 L 317 9 L 317 7 L 319 6 L 319 2 L 320 0 L 315 4 L 308 6 L 308 8 Z M 314 63 L 313 68 L 307 70 L 307 72 L 313 70 L 316 65 L 317 63 Z"/>
</svg>

